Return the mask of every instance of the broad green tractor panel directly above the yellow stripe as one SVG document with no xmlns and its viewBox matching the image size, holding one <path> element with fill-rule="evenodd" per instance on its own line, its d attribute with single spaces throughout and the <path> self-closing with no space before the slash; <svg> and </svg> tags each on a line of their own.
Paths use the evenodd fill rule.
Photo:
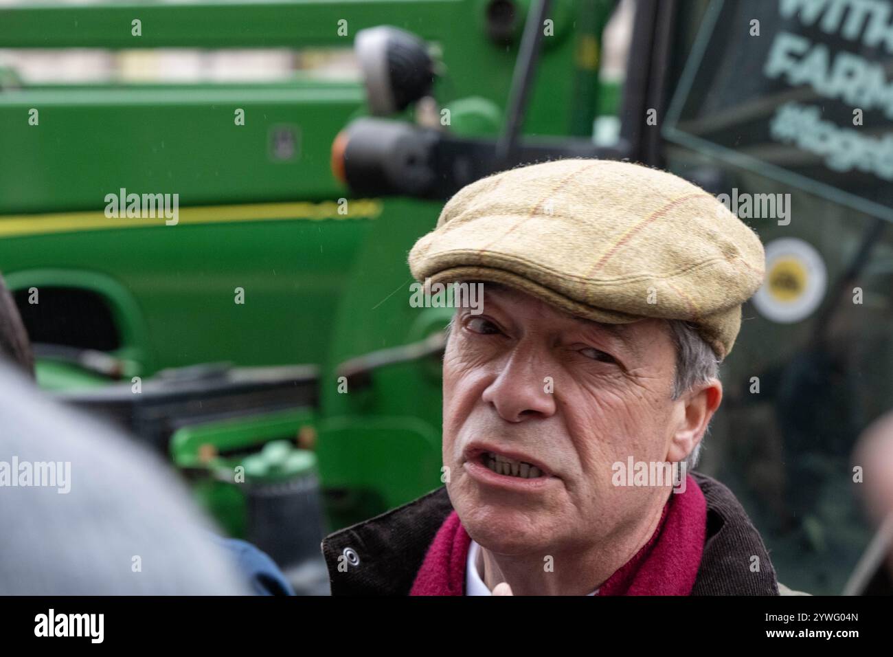
<svg viewBox="0 0 893 657">
<path fill-rule="evenodd" d="M 0 215 L 103 210 L 121 188 L 180 207 L 339 198 L 331 142 L 362 101 L 356 85 L 4 91 Z M 283 132 L 289 159 L 273 155 Z"/>
</svg>

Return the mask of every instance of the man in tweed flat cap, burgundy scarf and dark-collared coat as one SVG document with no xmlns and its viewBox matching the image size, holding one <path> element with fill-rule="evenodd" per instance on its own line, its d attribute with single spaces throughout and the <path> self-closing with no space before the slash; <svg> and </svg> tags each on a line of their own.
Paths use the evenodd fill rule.
<svg viewBox="0 0 893 657">
<path fill-rule="evenodd" d="M 409 265 L 467 298 L 446 485 L 328 536 L 332 594 L 780 594 L 739 501 L 689 472 L 764 277 L 745 223 L 671 173 L 562 160 L 460 190 Z"/>
</svg>

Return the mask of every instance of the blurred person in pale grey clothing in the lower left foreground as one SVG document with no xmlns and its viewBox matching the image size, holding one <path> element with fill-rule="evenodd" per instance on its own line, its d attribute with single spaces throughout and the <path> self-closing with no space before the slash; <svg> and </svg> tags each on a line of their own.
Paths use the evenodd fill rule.
<svg viewBox="0 0 893 657">
<path fill-rule="evenodd" d="M 213 534 L 167 464 L 33 379 L 0 277 L 0 595 L 291 593 L 267 555 Z"/>
</svg>

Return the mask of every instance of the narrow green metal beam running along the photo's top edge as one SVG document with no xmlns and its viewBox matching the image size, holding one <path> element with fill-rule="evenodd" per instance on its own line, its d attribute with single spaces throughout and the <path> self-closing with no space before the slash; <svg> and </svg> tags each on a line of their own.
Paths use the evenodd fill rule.
<svg viewBox="0 0 893 657">
<path fill-rule="evenodd" d="M 469 18 L 469 0 L 29 3 L 0 10 L 0 44 L 21 48 L 288 47 L 349 43 L 384 23 L 437 38 Z M 133 36 L 132 21 L 142 21 Z M 347 34 L 338 34 L 347 21 Z M 39 35 L 39 36 L 38 36 Z"/>
</svg>

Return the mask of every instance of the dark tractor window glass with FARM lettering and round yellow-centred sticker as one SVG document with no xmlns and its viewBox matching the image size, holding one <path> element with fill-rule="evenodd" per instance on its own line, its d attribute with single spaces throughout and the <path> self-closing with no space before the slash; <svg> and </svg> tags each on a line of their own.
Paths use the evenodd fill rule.
<svg viewBox="0 0 893 657">
<path fill-rule="evenodd" d="M 829 6 L 680 3 L 663 123 L 668 167 L 767 258 L 701 469 L 812 594 L 839 594 L 871 538 L 854 451 L 893 409 L 893 29 Z"/>
</svg>

